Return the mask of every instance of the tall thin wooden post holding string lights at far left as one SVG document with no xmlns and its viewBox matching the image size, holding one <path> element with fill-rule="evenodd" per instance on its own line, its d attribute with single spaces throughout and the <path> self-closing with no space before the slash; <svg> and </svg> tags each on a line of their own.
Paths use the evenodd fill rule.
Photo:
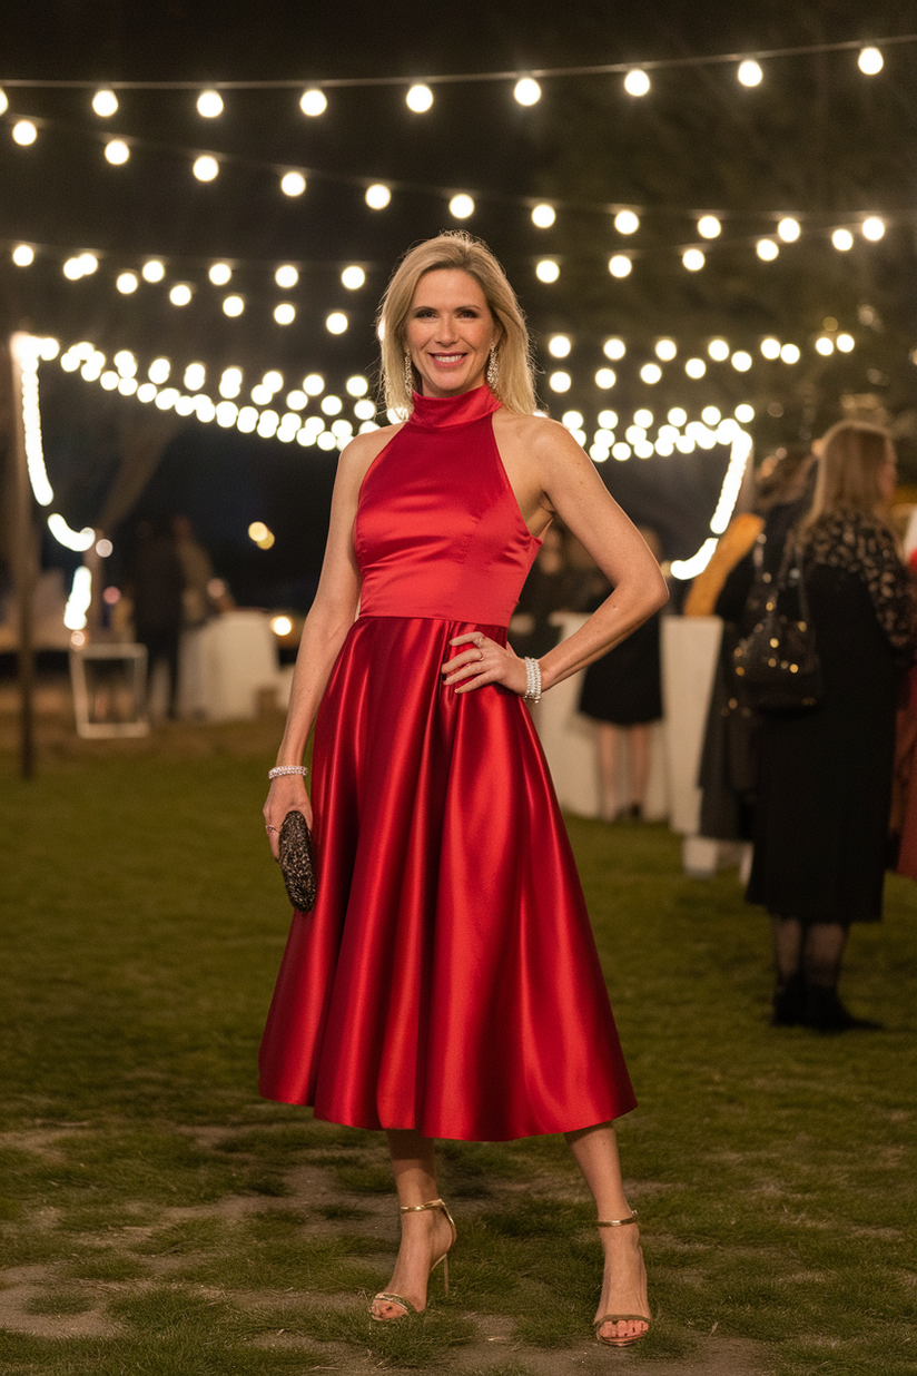
<svg viewBox="0 0 917 1376">
<path fill-rule="evenodd" d="M 34 638 L 33 603 L 36 586 L 36 535 L 32 484 L 26 460 L 25 418 L 22 414 L 22 363 L 18 337 L 10 338 L 12 363 L 12 583 L 18 621 L 18 677 L 19 677 L 19 772 L 23 779 L 34 773 Z"/>
</svg>

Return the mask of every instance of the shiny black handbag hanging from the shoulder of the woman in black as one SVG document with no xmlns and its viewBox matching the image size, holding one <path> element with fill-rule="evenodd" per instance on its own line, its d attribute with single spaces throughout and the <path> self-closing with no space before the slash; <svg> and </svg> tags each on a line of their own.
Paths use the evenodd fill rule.
<svg viewBox="0 0 917 1376">
<path fill-rule="evenodd" d="M 795 544 L 764 593 L 755 627 L 733 651 L 740 692 L 756 711 L 802 711 L 825 698 L 822 666 Z"/>
</svg>

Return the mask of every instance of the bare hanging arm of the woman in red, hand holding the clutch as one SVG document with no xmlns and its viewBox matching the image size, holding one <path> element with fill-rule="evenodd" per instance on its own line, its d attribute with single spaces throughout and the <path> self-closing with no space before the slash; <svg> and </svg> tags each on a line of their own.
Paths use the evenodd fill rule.
<svg viewBox="0 0 917 1376">
<path fill-rule="evenodd" d="M 322 563 L 318 592 L 305 618 L 300 649 L 296 656 L 286 729 L 278 750 L 278 765 L 302 762 L 312 722 L 319 710 L 334 660 L 353 625 L 360 601 L 360 575 L 353 550 L 353 522 L 360 484 L 373 460 L 390 442 L 395 429 L 357 435 L 341 453 L 331 498 L 329 539 Z M 265 827 L 276 859 L 278 835 L 287 812 L 298 810 L 312 826 L 312 805 L 302 775 L 274 779 L 264 804 Z"/>
</svg>

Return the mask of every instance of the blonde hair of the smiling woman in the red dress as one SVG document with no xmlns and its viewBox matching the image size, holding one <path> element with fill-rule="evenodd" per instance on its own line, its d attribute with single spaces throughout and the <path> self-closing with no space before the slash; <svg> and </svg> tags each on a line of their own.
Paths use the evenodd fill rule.
<svg viewBox="0 0 917 1376">
<path fill-rule="evenodd" d="M 484 292 L 499 337 L 496 343 L 498 381 L 495 395 L 510 411 L 531 416 L 536 409 L 532 370 L 532 347 L 522 308 L 516 300 L 506 272 L 487 244 L 463 230 L 450 230 L 408 249 L 385 289 L 377 318 L 381 338 L 381 372 L 385 405 L 410 416 L 411 392 L 407 385 L 404 355 L 406 330 L 411 301 L 418 282 L 428 272 L 467 272 Z M 418 384 L 417 370 L 414 384 Z"/>
</svg>

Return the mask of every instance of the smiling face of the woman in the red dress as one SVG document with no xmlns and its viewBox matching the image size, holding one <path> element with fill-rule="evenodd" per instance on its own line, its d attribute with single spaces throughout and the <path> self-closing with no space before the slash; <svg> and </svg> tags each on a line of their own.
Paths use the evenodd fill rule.
<svg viewBox="0 0 917 1376">
<path fill-rule="evenodd" d="M 480 387 L 499 326 L 467 272 L 439 268 L 417 283 L 404 340 L 422 396 L 458 396 Z"/>
</svg>

